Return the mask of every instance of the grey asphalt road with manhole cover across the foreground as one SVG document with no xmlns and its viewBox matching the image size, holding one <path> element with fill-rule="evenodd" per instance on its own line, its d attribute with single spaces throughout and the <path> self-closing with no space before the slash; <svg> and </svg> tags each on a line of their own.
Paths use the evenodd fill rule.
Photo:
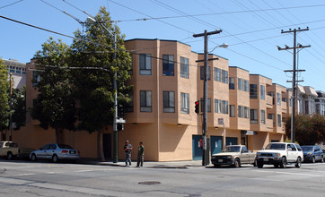
<svg viewBox="0 0 325 197">
<path fill-rule="evenodd" d="M 0 196 L 325 196 L 325 163 L 137 168 L 0 160 Z"/>
</svg>

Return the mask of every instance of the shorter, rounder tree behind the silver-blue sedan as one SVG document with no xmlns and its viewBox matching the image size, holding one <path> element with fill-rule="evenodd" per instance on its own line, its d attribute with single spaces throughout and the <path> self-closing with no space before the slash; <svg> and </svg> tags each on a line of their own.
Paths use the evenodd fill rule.
<svg viewBox="0 0 325 197">
<path fill-rule="evenodd" d="M 71 49 L 58 39 L 49 38 L 36 53 L 36 69 L 40 81 L 33 81 L 39 91 L 31 116 L 44 129 L 52 127 L 59 141 L 59 131 L 75 130 L 75 86 L 71 73 L 64 69 L 71 64 Z"/>
</svg>

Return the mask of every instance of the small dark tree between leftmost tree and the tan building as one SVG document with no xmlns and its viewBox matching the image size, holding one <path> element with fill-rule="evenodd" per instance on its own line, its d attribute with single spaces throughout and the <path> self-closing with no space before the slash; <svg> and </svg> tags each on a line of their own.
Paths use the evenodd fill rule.
<svg viewBox="0 0 325 197">
<path fill-rule="evenodd" d="M 13 123 L 16 124 L 15 130 L 26 125 L 26 87 L 13 89 Z"/>
</svg>

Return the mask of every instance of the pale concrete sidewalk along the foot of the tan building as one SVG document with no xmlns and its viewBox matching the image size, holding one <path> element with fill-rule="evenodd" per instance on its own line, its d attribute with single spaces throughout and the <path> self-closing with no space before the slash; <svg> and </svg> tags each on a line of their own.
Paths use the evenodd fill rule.
<svg viewBox="0 0 325 197">
<path fill-rule="evenodd" d="M 101 161 L 96 158 L 81 158 L 78 160 L 80 164 L 87 165 L 102 165 L 102 166 L 113 166 L 113 167 L 125 167 L 124 160 L 119 160 L 118 163 L 113 163 L 110 161 Z M 132 161 L 131 167 L 136 167 L 136 161 Z M 193 167 L 203 167 L 201 160 L 189 160 L 189 161 L 145 161 L 144 168 L 193 168 Z"/>
</svg>

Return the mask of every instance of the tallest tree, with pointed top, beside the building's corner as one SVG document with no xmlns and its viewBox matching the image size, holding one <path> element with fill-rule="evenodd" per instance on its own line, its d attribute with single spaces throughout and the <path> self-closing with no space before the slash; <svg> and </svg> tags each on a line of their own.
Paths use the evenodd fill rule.
<svg viewBox="0 0 325 197">
<path fill-rule="evenodd" d="M 79 69 L 75 73 L 78 84 L 78 100 L 80 101 L 80 123 L 78 129 L 89 133 L 98 132 L 98 144 L 101 160 L 104 160 L 102 151 L 102 130 L 113 123 L 114 95 L 113 86 L 114 72 L 118 73 L 118 100 L 119 103 L 127 103 L 128 92 L 132 90 L 127 86 L 129 79 L 131 58 L 124 47 L 125 36 L 120 35 L 119 27 L 110 22 L 110 13 L 101 7 L 94 17 L 94 23 L 86 24 L 86 33 L 75 32 L 72 45 L 74 60 L 77 66 L 95 67 L 97 69 Z M 101 23 L 100 23 L 101 22 Z M 110 30 L 117 37 L 117 50 L 114 51 L 113 36 L 103 28 Z M 83 40 L 89 40 L 85 42 Z M 114 53 L 116 59 L 114 59 Z"/>
</svg>

